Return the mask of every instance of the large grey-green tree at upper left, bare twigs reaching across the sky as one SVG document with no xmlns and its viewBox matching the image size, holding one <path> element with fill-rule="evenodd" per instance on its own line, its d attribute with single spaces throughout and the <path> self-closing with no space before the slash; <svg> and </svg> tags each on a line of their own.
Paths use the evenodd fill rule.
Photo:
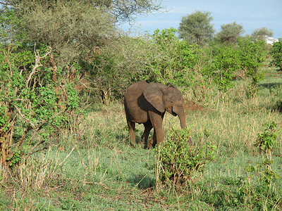
<svg viewBox="0 0 282 211">
<path fill-rule="evenodd" d="M 15 11 L 17 33 L 29 46 L 46 44 L 59 55 L 60 66 L 93 56 L 120 37 L 117 25 L 160 8 L 156 0 L 6 0 Z M 4 3 L 2 3 L 4 4 Z M 5 7 L 4 7 L 5 8 Z"/>
</svg>

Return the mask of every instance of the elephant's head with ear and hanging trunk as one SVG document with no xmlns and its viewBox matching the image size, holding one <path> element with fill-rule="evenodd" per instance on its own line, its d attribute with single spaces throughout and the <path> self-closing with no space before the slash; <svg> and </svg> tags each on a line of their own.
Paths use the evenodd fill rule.
<svg viewBox="0 0 282 211">
<path fill-rule="evenodd" d="M 181 128 L 186 127 L 183 97 L 175 87 L 167 87 L 164 84 L 149 84 L 143 92 L 146 100 L 160 113 L 167 111 L 173 116 L 178 116 Z"/>
</svg>

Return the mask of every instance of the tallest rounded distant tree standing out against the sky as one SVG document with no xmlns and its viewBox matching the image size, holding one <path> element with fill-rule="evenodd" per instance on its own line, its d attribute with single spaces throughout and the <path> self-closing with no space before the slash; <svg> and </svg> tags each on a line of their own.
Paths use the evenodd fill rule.
<svg viewBox="0 0 282 211">
<path fill-rule="evenodd" d="M 210 12 L 196 11 L 183 16 L 178 28 L 179 37 L 199 45 L 203 45 L 212 39 L 215 30 L 211 24 L 213 18 L 210 15 Z"/>
</svg>

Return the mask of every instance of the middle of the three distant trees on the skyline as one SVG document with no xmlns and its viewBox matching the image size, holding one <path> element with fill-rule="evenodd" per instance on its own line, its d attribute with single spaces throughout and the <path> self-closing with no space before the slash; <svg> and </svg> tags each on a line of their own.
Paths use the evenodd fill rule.
<svg viewBox="0 0 282 211">
<path fill-rule="evenodd" d="M 221 31 L 216 34 L 216 40 L 222 43 L 236 43 L 240 34 L 243 34 L 243 26 L 236 22 L 221 25 Z"/>
</svg>

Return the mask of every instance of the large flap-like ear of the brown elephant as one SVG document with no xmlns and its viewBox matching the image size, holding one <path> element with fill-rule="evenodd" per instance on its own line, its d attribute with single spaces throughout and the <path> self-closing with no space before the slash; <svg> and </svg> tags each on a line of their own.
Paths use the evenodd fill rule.
<svg viewBox="0 0 282 211">
<path fill-rule="evenodd" d="M 164 93 L 161 88 L 162 84 L 149 84 L 143 94 L 146 100 L 154 106 L 159 112 L 164 113 Z M 164 85 L 163 85 L 164 86 Z"/>
</svg>

